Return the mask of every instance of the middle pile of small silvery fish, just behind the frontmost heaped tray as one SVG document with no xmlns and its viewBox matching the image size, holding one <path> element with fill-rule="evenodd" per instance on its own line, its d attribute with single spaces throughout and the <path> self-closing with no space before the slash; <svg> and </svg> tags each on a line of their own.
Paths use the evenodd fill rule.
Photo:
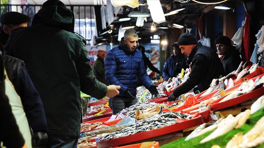
<svg viewBox="0 0 264 148">
<path fill-rule="evenodd" d="M 149 102 L 149 101 L 146 101 L 143 103 L 138 102 L 138 103 L 136 103 L 136 104 L 134 104 L 128 108 L 123 109 L 118 114 L 126 114 L 125 117 L 135 117 L 135 111 L 136 110 L 142 111 L 142 110 L 152 108 L 152 107 L 155 107 L 158 105 L 160 105 L 160 104 L 154 103 L 154 102 Z"/>
</svg>

